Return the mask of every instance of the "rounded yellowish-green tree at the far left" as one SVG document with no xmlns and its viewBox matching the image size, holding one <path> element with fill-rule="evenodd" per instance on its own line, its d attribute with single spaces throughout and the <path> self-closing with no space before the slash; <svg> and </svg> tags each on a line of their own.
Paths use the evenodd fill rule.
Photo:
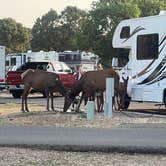
<svg viewBox="0 0 166 166">
<path fill-rule="evenodd" d="M 0 45 L 6 52 L 24 52 L 30 48 L 31 32 L 12 18 L 0 20 Z"/>
</svg>

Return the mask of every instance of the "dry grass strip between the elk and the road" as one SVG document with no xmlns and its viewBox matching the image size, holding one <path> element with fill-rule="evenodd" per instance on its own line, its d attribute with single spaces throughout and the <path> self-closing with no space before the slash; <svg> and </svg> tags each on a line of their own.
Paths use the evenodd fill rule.
<svg viewBox="0 0 166 166">
<path fill-rule="evenodd" d="M 0 125 L 115 128 L 166 124 L 166 118 L 154 115 L 113 112 L 113 117 L 108 119 L 103 113 L 96 113 L 93 120 L 87 120 L 85 112 L 63 113 L 59 109 L 57 112 L 48 112 L 43 105 L 37 104 L 29 104 L 29 108 L 31 112 L 22 113 L 20 104 L 1 104 Z"/>
</svg>

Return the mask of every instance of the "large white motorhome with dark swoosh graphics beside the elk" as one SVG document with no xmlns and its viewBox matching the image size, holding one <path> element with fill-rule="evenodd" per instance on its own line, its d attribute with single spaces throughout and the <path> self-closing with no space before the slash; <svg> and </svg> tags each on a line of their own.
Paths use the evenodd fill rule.
<svg viewBox="0 0 166 166">
<path fill-rule="evenodd" d="M 128 75 L 128 94 L 134 101 L 166 105 L 166 15 L 121 21 L 113 36 L 114 48 L 130 49 L 120 76 Z M 121 55 L 123 56 L 123 55 Z M 115 63 L 116 62 L 116 63 Z"/>
</svg>

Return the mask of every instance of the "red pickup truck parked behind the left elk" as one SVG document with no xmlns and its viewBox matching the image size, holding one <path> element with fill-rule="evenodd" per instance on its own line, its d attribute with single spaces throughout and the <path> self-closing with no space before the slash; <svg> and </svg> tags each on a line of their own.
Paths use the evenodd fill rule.
<svg viewBox="0 0 166 166">
<path fill-rule="evenodd" d="M 17 68 L 16 71 L 8 71 L 6 76 L 6 84 L 9 92 L 14 98 L 20 98 L 24 90 L 21 74 L 27 69 L 40 69 L 48 72 L 55 72 L 59 74 L 62 84 L 65 88 L 71 89 L 77 81 L 72 70 L 64 63 L 59 61 L 53 62 L 27 62 Z M 32 92 L 35 92 L 32 90 Z M 44 95 L 44 92 L 41 92 Z"/>
</svg>

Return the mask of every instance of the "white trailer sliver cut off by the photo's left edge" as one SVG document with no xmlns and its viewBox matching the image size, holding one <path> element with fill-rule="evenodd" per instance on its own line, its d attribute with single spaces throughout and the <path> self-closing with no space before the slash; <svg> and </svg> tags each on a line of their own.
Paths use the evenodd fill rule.
<svg viewBox="0 0 166 166">
<path fill-rule="evenodd" d="M 5 47 L 0 46 L 0 90 L 5 88 Z"/>
</svg>

